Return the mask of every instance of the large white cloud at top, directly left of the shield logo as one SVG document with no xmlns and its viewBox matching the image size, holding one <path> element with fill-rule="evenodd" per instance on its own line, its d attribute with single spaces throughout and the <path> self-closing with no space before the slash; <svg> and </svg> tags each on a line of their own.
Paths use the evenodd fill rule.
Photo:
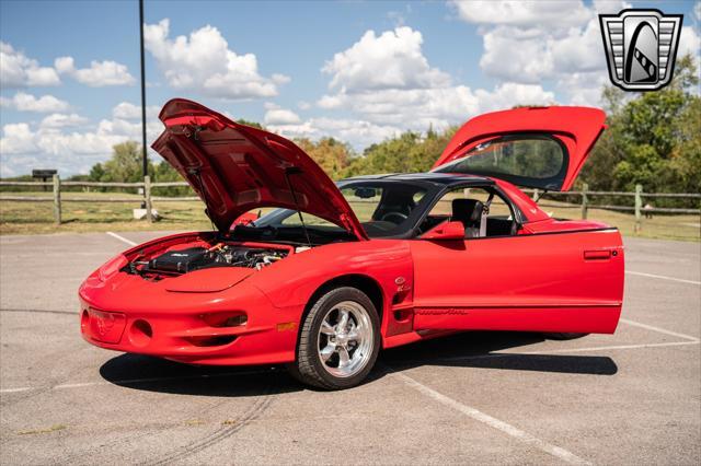
<svg viewBox="0 0 701 466">
<path fill-rule="evenodd" d="M 479 3 L 479 4 L 478 4 Z M 480 67 L 502 82 L 553 82 L 572 104 L 598 105 L 608 82 L 599 13 L 618 13 L 620 0 L 453 2 L 463 21 L 480 24 Z"/>
</svg>

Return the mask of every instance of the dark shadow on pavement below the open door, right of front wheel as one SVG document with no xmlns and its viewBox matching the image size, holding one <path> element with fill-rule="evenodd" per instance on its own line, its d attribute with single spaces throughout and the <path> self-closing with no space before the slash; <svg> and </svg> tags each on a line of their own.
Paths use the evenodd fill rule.
<svg viewBox="0 0 701 466">
<path fill-rule="evenodd" d="M 504 352 L 542 341 L 544 338 L 540 334 L 471 331 L 387 350 L 380 357 L 380 362 L 397 371 L 421 365 L 444 365 L 591 375 L 613 375 L 618 372 L 616 362 L 609 357 Z"/>
</svg>

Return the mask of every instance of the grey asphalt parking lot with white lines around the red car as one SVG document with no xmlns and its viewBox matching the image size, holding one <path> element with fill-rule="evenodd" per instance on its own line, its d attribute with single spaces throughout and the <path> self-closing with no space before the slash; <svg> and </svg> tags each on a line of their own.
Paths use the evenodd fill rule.
<svg viewBox="0 0 701 466">
<path fill-rule="evenodd" d="M 193 368 L 79 335 L 77 289 L 161 235 L 0 237 L 0 463 L 677 464 L 701 461 L 701 248 L 628 238 L 616 335 L 461 334 L 365 385 Z"/>
</svg>

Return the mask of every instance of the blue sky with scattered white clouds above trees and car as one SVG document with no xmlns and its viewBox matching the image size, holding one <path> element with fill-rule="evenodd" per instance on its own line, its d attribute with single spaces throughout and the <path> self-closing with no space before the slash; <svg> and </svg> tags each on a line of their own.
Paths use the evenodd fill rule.
<svg viewBox="0 0 701 466">
<path fill-rule="evenodd" d="M 596 13 L 620 1 L 146 1 L 149 139 L 188 97 L 289 137 L 361 150 L 515 104 L 597 105 L 607 82 Z M 698 2 L 680 53 L 699 55 Z M 138 139 L 136 1 L 1 1 L 0 174 L 84 173 Z"/>
</svg>

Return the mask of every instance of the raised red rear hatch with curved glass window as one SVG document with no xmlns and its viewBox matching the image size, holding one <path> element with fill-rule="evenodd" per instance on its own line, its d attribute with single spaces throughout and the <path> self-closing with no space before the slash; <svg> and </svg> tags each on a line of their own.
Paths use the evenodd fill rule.
<svg viewBox="0 0 701 466">
<path fill-rule="evenodd" d="M 598 108 L 564 106 L 480 115 L 456 132 L 433 171 L 567 190 L 606 128 L 605 120 Z"/>
</svg>

